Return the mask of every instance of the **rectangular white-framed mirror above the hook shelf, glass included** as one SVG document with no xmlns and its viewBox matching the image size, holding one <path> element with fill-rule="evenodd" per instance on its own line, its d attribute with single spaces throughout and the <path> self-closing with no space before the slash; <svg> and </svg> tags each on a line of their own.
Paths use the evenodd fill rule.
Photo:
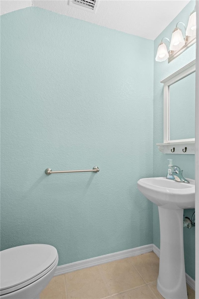
<svg viewBox="0 0 199 299">
<path fill-rule="evenodd" d="M 195 60 L 164 83 L 164 143 L 195 141 Z"/>
</svg>

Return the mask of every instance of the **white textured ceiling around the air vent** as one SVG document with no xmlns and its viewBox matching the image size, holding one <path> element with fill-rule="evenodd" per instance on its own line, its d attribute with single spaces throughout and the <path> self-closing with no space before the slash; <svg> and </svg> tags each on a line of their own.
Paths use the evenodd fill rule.
<svg viewBox="0 0 199 299">
<path fill-rule="evenodd" d="M 1 14 L 36 6 L 154 40 L 188 2 L 190 0 L 99 0 L 96 13 L 71 7 L 69 0 L 1 0 L 0 4 Z"/>
</svg>

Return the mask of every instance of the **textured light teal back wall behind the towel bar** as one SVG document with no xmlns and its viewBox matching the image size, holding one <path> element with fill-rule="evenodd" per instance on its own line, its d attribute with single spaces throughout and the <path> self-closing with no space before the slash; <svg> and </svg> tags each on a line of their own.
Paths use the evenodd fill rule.
<svg viewBox="0 0 199 299">
<path fill-rule="evenodd" d="M 153 52 L 37 7 L 1 17 L 2 249 L 52 244 L 62 265 L 153 242 Z"/>
</svg>

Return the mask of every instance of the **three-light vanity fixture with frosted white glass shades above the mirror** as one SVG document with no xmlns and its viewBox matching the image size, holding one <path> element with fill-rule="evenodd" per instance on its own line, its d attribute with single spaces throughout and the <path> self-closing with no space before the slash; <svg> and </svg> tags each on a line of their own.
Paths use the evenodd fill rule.
<svg viewBox="0 0 199 299">
<path fill-rule="evenodd" d="M 181 24 L 184 27 L 184 37 L 178 24 Z M 163 39 L 167 39 L 169 41 L 167 37 L 163 37 Z M 171 36 L 171 42 L 169 41 L 169 52 L 167 51 L 167 47 L 162 40 L 158 45 L 157 55 L 155 57 L 155 60 L 159 62 L 165 61 L 168 58 L 169 63 L 188 47 L 193 45 L 196 42 L 196 10 L 194 9 L 190 14 L 187 28 L 183 22 L 178 22 L 176 24 L 176 28 Z"/>
</svg>

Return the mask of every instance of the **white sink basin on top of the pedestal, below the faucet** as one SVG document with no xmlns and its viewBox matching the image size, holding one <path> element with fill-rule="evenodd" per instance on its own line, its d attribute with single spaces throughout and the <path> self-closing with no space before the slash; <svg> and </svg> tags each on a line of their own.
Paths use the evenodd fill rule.
<svg viewBox="0 0 199 299">
<path fill-rule="evenodd" d="M 141 178 L 137 187 L 151 202 L 166 209 L 195 208 L 195 180 L 176 182 L 165 177 Z"/>
</svg>

